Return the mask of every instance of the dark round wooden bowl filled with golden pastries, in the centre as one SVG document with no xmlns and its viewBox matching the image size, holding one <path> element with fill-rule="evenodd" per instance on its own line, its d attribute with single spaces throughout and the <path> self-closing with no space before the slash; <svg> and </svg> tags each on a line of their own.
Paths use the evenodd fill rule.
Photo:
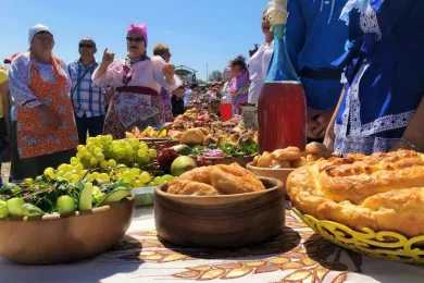
<svg viewBox="0 0 424 283">
<path fill-rule="evenodd" d="M 282 234 L 283 184 L 237 163 L 197 168 L 154 189 L 158 235 L 171 243 L 236 247 Z"/>
</svg>

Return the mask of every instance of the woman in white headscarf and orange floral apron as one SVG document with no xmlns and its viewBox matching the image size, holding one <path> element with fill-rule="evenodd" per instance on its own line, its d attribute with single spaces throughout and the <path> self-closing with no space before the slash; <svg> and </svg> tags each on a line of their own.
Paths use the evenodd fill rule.
<svg viewBox="0 0 424 283">
<path fill-rule="evenodd" d="M 78 145 L 71 79 L 66 64 L 52 54 L 50 28 L 29 29 L 29 52 L 17 56 L 9 71 L 9 88 L 17 109 L 12 124 L 14 180 L 35 177 L 48 167 L 70 161 Z"/>
</svg>

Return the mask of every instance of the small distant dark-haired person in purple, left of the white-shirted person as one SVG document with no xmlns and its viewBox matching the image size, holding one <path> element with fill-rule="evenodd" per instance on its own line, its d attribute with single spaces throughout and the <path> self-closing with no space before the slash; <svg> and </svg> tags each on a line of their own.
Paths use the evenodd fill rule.
<svg viewBox="0 0 424 283">
<path fill-rule="evenodd" d="M 238 56 L 229 62 L 233 78 L 229 81 L 229 93 L 234 99 L 234 113 L 241 114 L 241 103 L 248 102 L 249 71 L 244 56 Z"/>
</svg>

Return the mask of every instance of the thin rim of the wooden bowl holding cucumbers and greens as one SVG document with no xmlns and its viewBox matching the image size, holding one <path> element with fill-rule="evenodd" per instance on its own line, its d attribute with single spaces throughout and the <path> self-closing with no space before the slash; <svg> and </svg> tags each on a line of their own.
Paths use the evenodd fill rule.
<svg viewBox="0 0 424 283">
<path fill-rule="evenodd" d="M 125 200 L 121 200 L 123 202 L 128 202 L 133 201 L 135 199 L 135 195 L 132 192 L 132 195 L 126 197 Z M 40 220 L 40 221 L 52 221 L 52 220 L 64 220 L 68 218 L 74 218 L 74 217 L 84 217 L 84 216 L 89 216 L 89 214 L 95 214 L 95 213 L 101 213 L 108 210 L 113 209 L 114 206 L 121 204 L 121 201 L 113 202 L 111 205 L 107 206 L 101 206 L 93 208 L 91 210 L 85 210 L 85 211 L 75 211 L 73 214 L 59 214 L 59 213 L 53 213 L 53 214 L 45 214 L 41 218 L 40 217 L 24 217 L 24 218 L 17 218 L 17 217 L 10 217 L 7 219 L 0 219 L 0 222 L 29 222 L 29 221 L 35 221 L 35 220 Z"/>
</svg>

